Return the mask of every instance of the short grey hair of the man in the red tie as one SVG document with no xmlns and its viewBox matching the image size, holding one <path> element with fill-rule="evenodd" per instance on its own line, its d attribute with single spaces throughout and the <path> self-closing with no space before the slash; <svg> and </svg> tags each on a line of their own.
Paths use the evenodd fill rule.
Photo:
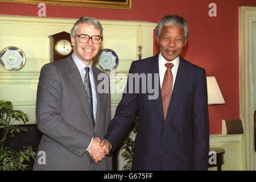
<svg viewBox="0 0 256 182">
<path fill-rule="evenodd" d="M 179 26 L 184 30 L 185 39 L 188 38 L 189 30 L 188 24 L 184 18 L 179 15 L 166 15 L 158 22 L 158 26 L 156 27 L 156 36 L 159 36 L 162 32 L 164 26 Z"/>
</svg>

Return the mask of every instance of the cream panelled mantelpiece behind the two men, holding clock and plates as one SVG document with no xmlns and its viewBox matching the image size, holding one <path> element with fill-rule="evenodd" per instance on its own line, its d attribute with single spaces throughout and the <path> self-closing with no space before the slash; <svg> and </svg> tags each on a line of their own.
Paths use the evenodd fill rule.
<svg viewBox="0 0 256 182">
<path fill-rule="evenodd" d="M 12 101 L 16 109 L 28 113 L 30 123 L 36 123 L 35 101 L 40 69 L 52 61 L 49 36 L 61 31 L 70 32 L 76 20 L 0 15 L 0 50 L 7 46 L 19 47 L 27 57 L 26 65 L 18 72 L 8 72 L 0 68 L 1 99 Z M 113 49 L 119 57 L 115 75 L 127 75 L 131 62 L 138 60 L 139 24 L 143 46 L 142 58 L 152 56 L 156 23 L 103 19 L 100 22 L 104 28 L 102 48 Z M 96 66 L 98 67 L 97 63 Z M 113 75 L 110 79 L 110 86 L 113 89 L 118 81 L 122 80 L 115 79 Z M 123 82 L 125 83 L 126 81 Z M 121 95 L 122 93 L 112 93 L 112 113 Z"/>
</svg>

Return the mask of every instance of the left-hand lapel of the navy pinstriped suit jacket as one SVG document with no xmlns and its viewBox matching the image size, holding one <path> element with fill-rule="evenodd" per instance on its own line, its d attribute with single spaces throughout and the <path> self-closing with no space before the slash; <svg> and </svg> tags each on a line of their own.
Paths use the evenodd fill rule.
<svg viewBox="0 0 256 182">
<path fill-rule="evenodd" d="M 157 73 L 159 75 L 158 56 L 159 56 L 159 53 L 157 55 L 155 55 L 154 57 L 152 57 L 152 59 L 150 61 L 150 65 L 148 67 L 148 73 L 152 73 L 153 78 L 154 78 L 155 73 Z M 159 77 L 158 77 L 158 79 L 159 79 Z M 156 110 L 158 110 L 158 114 L 160 115 L 161 120 L 164 121 L 160 80 L 158 82 L 159 82 L 159 84 L 158 84 L 159 96 L 156 100 L 154 100 L 154 102 L 155 102 Z M 154 85 L 154 79 L 152 79 L 152 85 Z"/>
</svg>

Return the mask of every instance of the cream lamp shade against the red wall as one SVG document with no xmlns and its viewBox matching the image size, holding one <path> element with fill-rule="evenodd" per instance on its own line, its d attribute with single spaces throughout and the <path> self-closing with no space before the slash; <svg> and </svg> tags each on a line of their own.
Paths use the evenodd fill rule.
<svg viewBox="0 0 256 182">
<path fill-rule="evenodd" d="M 221 90 L 214 76 L 207 76 L 208 105 L 225 104 Z"/>
</svg>

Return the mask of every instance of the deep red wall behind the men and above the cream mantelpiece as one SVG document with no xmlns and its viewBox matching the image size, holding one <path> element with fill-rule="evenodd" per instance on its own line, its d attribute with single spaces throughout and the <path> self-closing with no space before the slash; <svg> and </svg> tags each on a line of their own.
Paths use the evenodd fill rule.
<svg viewBox="0 0 256 182">
<path fill-rule="evenodd" d="M 216 3 L 217 17 L 209 17 L 209 3 Z M 221 134 L 221 119 L 240 118 L 238 81 L 238 8 L 256 6 L 255 0 L 133 0 L 132 10 L 46 6 L 46 16 L 143 20 L 157 23 L 164 15 L 187 20 L 190 35 L 181 55 L 215 76 L 225 105 L 209 105 L 210 134 Z M 37 5 L 0 3 L 0 14 L 38 16 Z M 18 32 L 17 32 L 18 34 Z M 143 46 L 143 45 L 142 45 Z M 159 51 L 155 42 L 154 54 Z"/>
</svg>

